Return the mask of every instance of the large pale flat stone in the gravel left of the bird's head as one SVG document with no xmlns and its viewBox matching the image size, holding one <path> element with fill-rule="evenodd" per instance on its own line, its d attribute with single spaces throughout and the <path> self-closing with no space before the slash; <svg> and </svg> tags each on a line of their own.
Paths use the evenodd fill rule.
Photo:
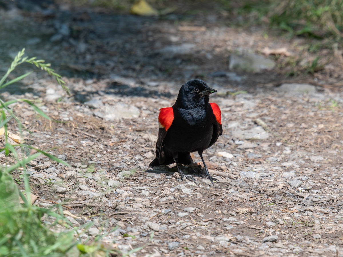
<svg viewBox="0 0 343 257">
<path fill-rule="evenodd" d="M 120 121 L 120 119 L 138 118 L 140 110 L 135 106 L 126 103 L 116 103 L 113 106 L 105 105 L 94 112 L 95 116 L 103 118 L 105 121 Z"/>
</svg>

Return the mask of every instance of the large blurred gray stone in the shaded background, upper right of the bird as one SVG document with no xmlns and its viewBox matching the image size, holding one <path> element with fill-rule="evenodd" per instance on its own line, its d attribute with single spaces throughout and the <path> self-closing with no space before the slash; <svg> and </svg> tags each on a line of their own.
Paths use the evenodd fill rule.
<svg viewBox="0 0 343 257">
<path fill-rule="evenodd" d="M 261 72 L 272 70 L 275 62 L 255 53 L 244 53 L 242 55 L 230 54 L 229 69 L 243 70 L 248 72 Z"/>
</svg>

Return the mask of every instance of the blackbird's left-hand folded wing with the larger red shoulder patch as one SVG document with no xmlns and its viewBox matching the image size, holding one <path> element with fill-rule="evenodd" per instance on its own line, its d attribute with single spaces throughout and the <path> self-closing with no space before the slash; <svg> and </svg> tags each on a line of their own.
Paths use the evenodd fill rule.
<svg viewBox="0 0 343 257">
<path fill-rule="evenodd" d="M 156 143 L 156 157 L 159 163 L 163 163 L 166 159 L 165 152 L 163 150 L 163 140 L 166 137 L 167 131 L 173 123 L 174 111 L 173 108 L 167 107 L 159 110 L 158 115 L 158 136 Z"/>
</svg>

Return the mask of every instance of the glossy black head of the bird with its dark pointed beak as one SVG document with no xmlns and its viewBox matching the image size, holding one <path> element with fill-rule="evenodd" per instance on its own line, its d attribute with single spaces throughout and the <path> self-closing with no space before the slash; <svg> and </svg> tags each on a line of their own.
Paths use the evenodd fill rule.
<svg viewBox="0 0 343 257">
<path fill-rule="evenodd" d="M 201 79 L 193 78 L 182 85 L 176 103 L 184 108 L 205 106 L 209 103 L 209 95 L 216 91 Z"/>
</svg>

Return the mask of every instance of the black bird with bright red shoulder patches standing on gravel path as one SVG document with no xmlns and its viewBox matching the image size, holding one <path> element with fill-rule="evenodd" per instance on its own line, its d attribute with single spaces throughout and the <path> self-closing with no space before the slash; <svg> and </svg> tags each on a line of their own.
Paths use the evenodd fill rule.
<svg viewBox="0 0 343 257">
<path fill-rule="evenodd" d="M 181 179 L 194 180 L 182 172 L 179 163 L 193 163 L 190 152 L 197 151 L 204 164 L 205 177 L 212 183 L 219 182 L 210 175 L 202 157 L 203 150 L 223 134 L 221 111 L 216 103 L 209 103 L 209 95 L 216 91 L 201 79 L 191 79 L 180 88 L 173 107 L 160 109 L 156 158 L 149 166 L 175 162 Z"/>
</svg>

